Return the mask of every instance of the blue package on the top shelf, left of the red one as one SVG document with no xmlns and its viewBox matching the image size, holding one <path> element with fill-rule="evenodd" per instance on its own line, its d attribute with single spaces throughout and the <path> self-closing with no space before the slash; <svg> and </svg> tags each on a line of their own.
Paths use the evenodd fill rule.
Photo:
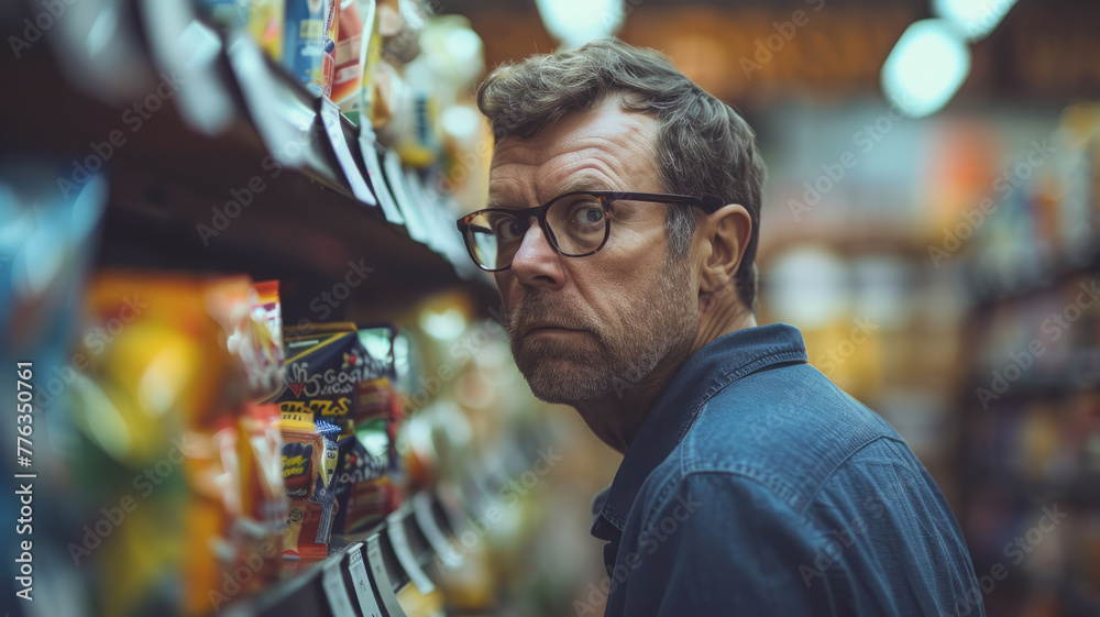
<svg viewBox="0 0 1100 617">
<path fill-rule="evenodd" d="M 318 96 L 324 87 L 324 19 L 332 1 L 285 0 L 283 66 Z"/>
</svg>

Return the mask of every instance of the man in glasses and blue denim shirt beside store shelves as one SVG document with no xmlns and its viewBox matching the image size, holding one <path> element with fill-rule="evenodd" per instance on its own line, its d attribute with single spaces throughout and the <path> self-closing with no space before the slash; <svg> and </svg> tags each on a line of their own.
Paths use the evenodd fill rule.
<svg viewBox="0 0 1100 617">
<path fill-rule="evenodd" d="M 491 203 L 459 229 L 531 390 L 624 454 L 592 525 L 606 615 L 982 615 L 925 469 L 798 329 L 756 323 L 745 121 L 615 42 L 501 67 L 477 97 Z"/>
</svg>

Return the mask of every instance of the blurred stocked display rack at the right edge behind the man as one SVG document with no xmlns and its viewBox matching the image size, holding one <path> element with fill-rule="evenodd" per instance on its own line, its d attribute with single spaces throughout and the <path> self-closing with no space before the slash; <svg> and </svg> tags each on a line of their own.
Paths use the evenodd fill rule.
<svg viewBox="0 0 1100 617">
<path fill-rule="evenodd" d="M 1100 142 L 1068 128 L 1055 139 L 1074 145 L 976 234 L 981 260 L 964 273 L 959 522 L 990 615 L 1100 609 L 1100 302 L 1081 287 L 1100 275 Z M 1059 221 L 1075 241 L 1035 220 Z M 990 593 L 998 565 L 1011 583 Z"/>
</svg>

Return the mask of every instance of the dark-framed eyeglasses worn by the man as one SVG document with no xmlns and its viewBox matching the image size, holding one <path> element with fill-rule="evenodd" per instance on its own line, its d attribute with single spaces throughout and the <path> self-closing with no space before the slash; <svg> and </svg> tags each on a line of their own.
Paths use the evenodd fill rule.
<svg viewBox="0 0 1100 617">
<path fill-rule="evenodd" d="M 550 245 L 562 255 L 585 257 L 600 251 L 610 235 L 610 205 L 615 201 L 684 203 L 710 210 L 716 209 L 718 200 L 663 192 L 583 190 L 559 195 L 542 206 L 524 210 L 477 210 L 459 219 L 458 225 L 477 267 L 501 272 L 512 267 L 531 217 L 538 219 Z"/>
</svg>

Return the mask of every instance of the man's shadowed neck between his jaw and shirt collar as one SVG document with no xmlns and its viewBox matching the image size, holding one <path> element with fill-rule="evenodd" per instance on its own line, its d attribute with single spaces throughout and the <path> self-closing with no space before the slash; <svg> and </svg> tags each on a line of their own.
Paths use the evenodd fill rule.
<svg viewBox="0 0 1100 617">
<path fill-rule="evenodd" d="M 712 308 L 712 307 L 708 307 Z M 686 350 L 670 353 L 649 375 L 636 384 L 625 383 L 610 396 L 574 407 L 588 429 L 620 454 L 626 454 L 641 430 L 657 397 L 664 390 L 683 363 L 704 345 L 721 337 L 756 327 L 752 312 L 730 306 L 728 310 L 704 311 L 695 340 Z"/>
</svg>

